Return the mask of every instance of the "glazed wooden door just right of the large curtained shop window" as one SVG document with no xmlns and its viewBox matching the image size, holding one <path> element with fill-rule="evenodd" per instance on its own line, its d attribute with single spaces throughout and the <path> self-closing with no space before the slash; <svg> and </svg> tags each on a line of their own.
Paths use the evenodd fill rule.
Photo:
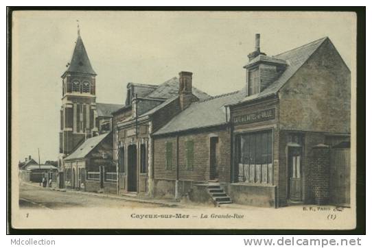
<svg viewBox="0 0 372 248">
<path fill-rule="evenodd" d="M 292 201 L 301 201 L 302 198 L 301 154 L 301 147 L 288 148 L 288 198 Z"/>
</svg>

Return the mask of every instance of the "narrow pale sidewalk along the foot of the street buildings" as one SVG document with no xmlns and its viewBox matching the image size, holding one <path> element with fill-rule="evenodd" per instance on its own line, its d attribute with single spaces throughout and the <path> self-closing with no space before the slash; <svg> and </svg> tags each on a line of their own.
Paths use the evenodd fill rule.
<svg viewBox="0 0 372 248">
<path fill-rule="evenodd" d="M 111 199 L 121 199 L 124 201 L 135 201 L 139 203 L 152 203 L 152 204 L 158 204 L 161 206 L 167 206 L 167 207 L 177 207 L 182 208 L 184 207 L 184 204 L 180 203 L 179 201 L 175 200 L 159 200 L 159 199 L 143 199 L 143 198 L 137 198 L 137 197 L 126 197 L 121 195 L 111 195 L 111 194 L 104 194 L 104 193 L 93 193 L 93 192 L 86 192 L 86 191 L 80 191 L 80 190 L 72 190 L 72 189 L 65 189 L 65 188 L 43 188 L 43 186 L 39 186 L 38 183 L 31 183 L 31 182 L 20 182 L 21 184 L 27 184 L 30 186 L 42 188 L 44 190 L 55 190 L 60 192 L 66 192 L 66 193 L 74 193 L 74 194 L 80 194 L 80 195 L 90 195 L 95 197 L 106 197 Z"/>
</svg>

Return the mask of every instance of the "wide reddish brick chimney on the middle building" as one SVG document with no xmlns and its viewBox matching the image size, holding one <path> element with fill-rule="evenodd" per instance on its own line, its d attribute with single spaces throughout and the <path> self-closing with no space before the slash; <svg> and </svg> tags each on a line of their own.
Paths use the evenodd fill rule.
<svg viewBox="0 0 372 248">
<path fill-rule="evenodd" d="M 191 102 L 198 100 L 192 95 L 192 73 L 188 71 L 179 73 L 178 95 L 180 97 L 181 110 L 187 108 Z"/>
</svg>

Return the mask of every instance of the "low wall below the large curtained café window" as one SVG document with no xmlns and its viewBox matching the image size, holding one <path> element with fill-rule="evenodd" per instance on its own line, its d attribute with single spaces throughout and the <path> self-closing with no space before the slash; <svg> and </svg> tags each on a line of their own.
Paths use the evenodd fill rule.
<svg viewBox="0 0 372 248">
<path fill-rule="evenodd" d="M 253 185 L 253 184 L 230 184 L 228 195 L 233 203 L 243 205 L 276 208 L 277 207 L 277 186 Z"/>
</svg>

